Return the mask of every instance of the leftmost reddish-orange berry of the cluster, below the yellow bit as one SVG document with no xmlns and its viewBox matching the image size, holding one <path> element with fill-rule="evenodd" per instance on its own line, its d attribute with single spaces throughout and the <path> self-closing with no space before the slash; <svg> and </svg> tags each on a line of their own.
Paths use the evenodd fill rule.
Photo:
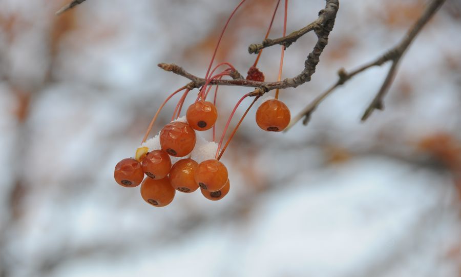
<svg viewBox="0 0 461 277">
<path fill-rule="evenodd" d="M 141 184 L 144 179 L 141 163 L 135 159 L 123 159 L 115 166 L 115 181 L 123 187 L 132 188 Z"/>
</svg>

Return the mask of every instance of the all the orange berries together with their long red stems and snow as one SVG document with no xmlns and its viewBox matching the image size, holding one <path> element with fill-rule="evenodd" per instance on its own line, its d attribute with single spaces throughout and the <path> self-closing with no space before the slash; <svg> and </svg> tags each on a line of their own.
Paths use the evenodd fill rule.
<svg viewBox="0 0 461 277">
<path fill-rule="evenodd" d="M 224 30 L 232 15 L 244 1 L 242 0 L 231 14 Z M 274 21 L 279 2 L 280 0 L 277 2 L 266 38 Z M 284 32 L 286 30 L 286 3 L 287 1 L 285 1 Z M 209 200 L 220 200 L 229 192 L 228 172 L 224 164 L 219 160 L 236 133 L 237 128 L 259 96 L 256 96 L 254 101 L 246 109 L 221 149 L 226 131 L 238 106 L 246 97 L 250 96 L 249 93 L 245 94 L 237 102 L 229 115 L 219 143 L 215 143 L 215 123 L 218 118 L 218 111 L 216 109 L 218 86 L 215 86 L 216 90 L 212 103 L 206 101 L 208 93 L 212 88 L 209 84 L 213 80 L 220 80 L 226 76 L 240 75 L 236 74 L 237 71 L 229 63 L 220 63 L 211 70 L 224 30 L 221 33 L 212 61 L 206 72 L 206 82 L 200 88 L 197 100 L 187 108 L 186 116 L 179 117 L 185 98 L 191 90 L 189 87 L 184 86 L 167 97 L 159 107 L 144 135 L 141 146 L 136 150 L 135 157 L 123 159 L 115 166 L 115 181 L 123 187 L 136 187 L 141 184 L 142 198 L 145 202 L 155 207 L 163 207 L 170 204 L 175 197 L 176 191 L 192 193 L 200 187 L 201 193 Z M 284 48 L 282 48 L 279 81 L 282 73 L 283 50 Z M 261 52 L 259 52 L 254 65 L 248 70 L 247 80 L 264 81 L 264 74 L 256 67 Z M 214 75 L 214 72 L 221 66 L 227 66 L 227 68 Z M 163 106 L 180 91 L 184 91 L 184 94 L 176 105 L 172 121 L 165 125 L 157 136 L 146 141 Z M 278 94 L 279 91 L 277 90 L 275 99 L 262 102 L 256 112 L 256 123 L 264 131 L 280 132 L 290 122 L 290 111 L 283 102 L 278 100 Z M 212 128 L 213 142 L 205 141 L 204 138 L 196 133 L 197 131 L 206 131 Z"/>
</svg>

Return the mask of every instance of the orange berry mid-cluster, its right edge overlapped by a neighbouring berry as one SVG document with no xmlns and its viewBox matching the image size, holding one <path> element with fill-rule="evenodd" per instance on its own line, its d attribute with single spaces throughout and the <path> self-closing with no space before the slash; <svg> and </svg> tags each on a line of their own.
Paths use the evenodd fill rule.
<svg viewBox="0 0 461 277">
<path fill-rule="evenodd" d="M 173 188 L 181 192 L 194 192 L 198 184 L 194 180 L 198 163 L 192 159 L 177 161 L 170 170 L 170 182 Z"/>
</svg>

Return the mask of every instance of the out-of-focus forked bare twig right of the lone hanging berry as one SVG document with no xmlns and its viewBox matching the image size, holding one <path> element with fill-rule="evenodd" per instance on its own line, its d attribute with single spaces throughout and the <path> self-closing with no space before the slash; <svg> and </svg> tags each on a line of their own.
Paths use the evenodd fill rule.
<svg viewBox="0 0 461 277">
<path fill-rule="evenodd" d="M 380 56 L 379 58 L 377 58 L 376 60 L 370 63 L 367 63 L 361 66 L 357 70 L 354 70 L 350 73 L 347 73 L 344 69 L 340 69 L 338 71 L 338 75 L 339 75 L 338 81 L 333 86 L 331 86 L 328 90 L 320 94 L 306 108 L 304 108 L 298 115 L 292 118 L 290 124 L 285 129 L 285 131 L 287 131 L 290 127 L 295 125 L 303 117 L 304 117 L 303 124 L 304 125 L 307 124 L 307 122 L 310 119 L 310 115 L 318 107 L 318 105 L 331 92 L 333 92 L 334 89 L 346 83 L 354 75 L 357 75 L 367 70 L 370 67 L 381 66 L 384 63 L 390 61 L 392 62 L 392 65 L 389 68 L 389 72 L 387 73 L 387 76 L 383 82 L 383 85 L 381 86 L 379 92 L 374 97 L 373 101 L 371 101 L 370 105 L 368 105 L 367 109 L 365 110 L 362 116 L 362 121 L 367 120 L 367 118 L 370 116 L 370 114 L 375 109 L 379 109 L 379 110 L 384 109 L 383 98 L 386 95 L 387 91 L 389 90 L 390 85 L 392 84 L 393 77 L 395 76 L 397 65 L 399 64 L 399 61 L 405 54 L 406 50 L 408 49 L 408 47 L 410 46 L 411 42 L 414 40 L 416 35 L 423 29 L 423 27 L 426 25 L 426 23 L 429 21 L 432 15 L 435 14 L 435 12 L 442 6 L 442 4 L 444 4 L 444 2 L 445 0 L 432 0 L 432 2 L 427 6 L 426 10 L 421 15 L 421 17 L 418 18 L 415 24 L 408 30 L 407 34 L 402 39 L 402 41 L 396 46 L 394 46 L 393 48 L 391 48 L 390 50 L 388 50 L 384 55 Z"/>
</svg>

